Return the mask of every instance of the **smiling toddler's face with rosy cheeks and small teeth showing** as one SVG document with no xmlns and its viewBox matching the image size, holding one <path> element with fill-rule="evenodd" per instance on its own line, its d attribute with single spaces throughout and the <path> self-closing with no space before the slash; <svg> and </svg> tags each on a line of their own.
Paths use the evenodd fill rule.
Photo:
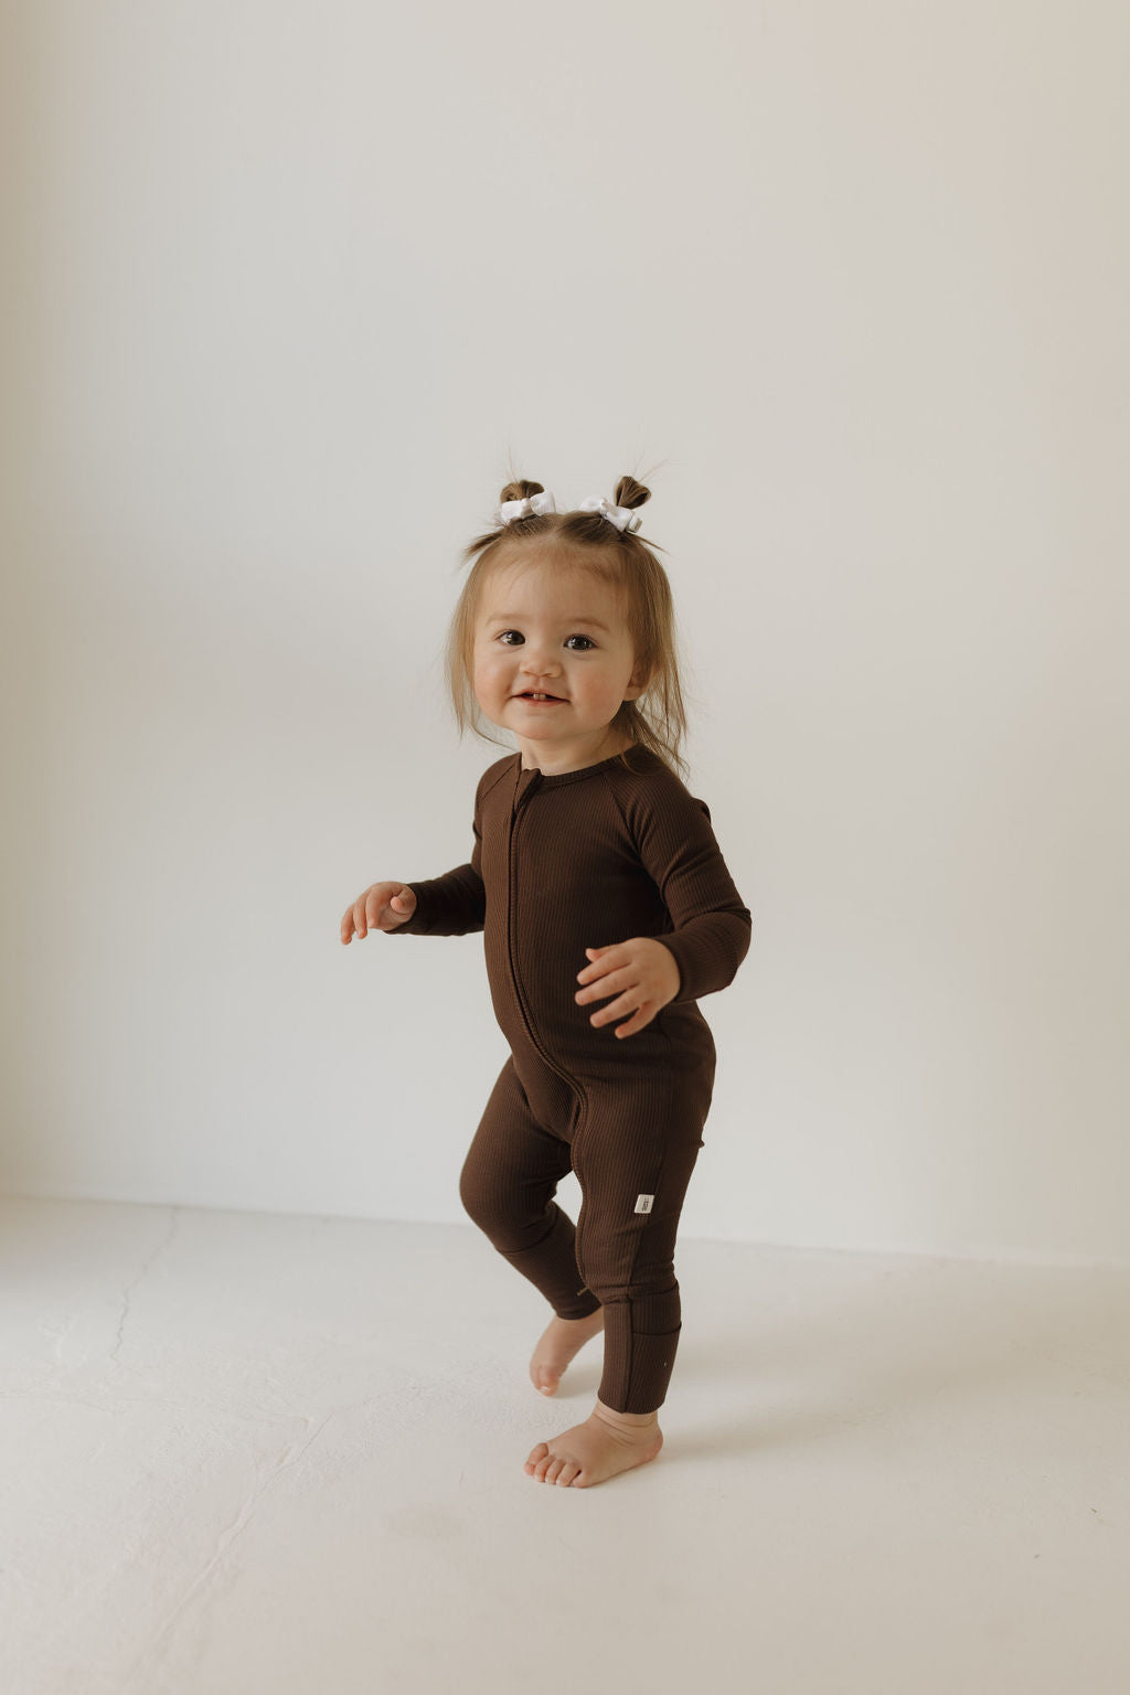
<svg viewBox="0 0 1130 1695">
<path fill-rule="evenodd" d="M 474 695 L 523 753 L 571 758 L 596 747 L 622 702 L 642 693 L 632 663 L 620 598 L 591 573 L 556 558 L 517 559 L 488 578 L 474 632 Z M 525 698 L 534 692 L 556 703 Z"/>
</svg>

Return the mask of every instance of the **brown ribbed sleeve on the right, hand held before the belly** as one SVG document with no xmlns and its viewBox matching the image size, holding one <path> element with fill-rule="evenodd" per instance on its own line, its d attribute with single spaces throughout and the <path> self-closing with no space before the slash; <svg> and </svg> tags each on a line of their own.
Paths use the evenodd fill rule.
<svg viewBox="0 0 1130 1695">
<path fill-rule="evenodd" d="M 678 780 L 662 783 L 647 800 L 637 798 L 630 824 L 674 925 L 656 937 L 679 968 L 671 1005 L 727 988 L 749 953 L 752 917 L 722 858 L 706 802 Z"/>
</svg>

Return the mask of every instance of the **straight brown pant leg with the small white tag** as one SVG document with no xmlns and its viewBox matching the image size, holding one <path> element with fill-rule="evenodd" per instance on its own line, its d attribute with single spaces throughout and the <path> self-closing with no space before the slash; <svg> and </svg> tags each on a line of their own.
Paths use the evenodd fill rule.
<svg viewBox="0 0 1130 1695">
<path fill-rule="evenodd" d="M 667 1393 L 683 1322 L 674 1242 L 708 1107 L 693 1076 L 590 1092 L 574 1139 L 576 1256 L 605 1309 L 598 1395 L 615 1412 L 654 1412 Z"/>
</svg>

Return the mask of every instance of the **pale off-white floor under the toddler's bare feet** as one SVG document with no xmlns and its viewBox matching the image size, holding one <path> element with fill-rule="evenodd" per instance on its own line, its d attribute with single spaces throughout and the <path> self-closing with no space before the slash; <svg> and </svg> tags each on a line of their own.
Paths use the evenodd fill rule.
<svg viewBox="0 0 1130 1695">
<path fill-rule="evenodd" d="M 0 1203 L 3 1695 L 1127 1695 L 1130 1271 L 679 1241 L 657 1461 L 474 1225 Z"/>
</svg>

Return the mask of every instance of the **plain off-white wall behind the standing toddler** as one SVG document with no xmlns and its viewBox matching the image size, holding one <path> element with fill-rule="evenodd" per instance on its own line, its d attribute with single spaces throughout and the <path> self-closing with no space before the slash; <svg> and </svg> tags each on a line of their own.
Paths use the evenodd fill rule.
<svg viewBox="0 0 1130 1695">
<path fill-rule="evenodd" d="M 466 1219 L 481 937 L 337 925 L 513 454 L 645 473 L 754 912 L 683 1232 L 1125 1261 L 1127 8 L 3 32 L 0 1186 Z"/>
</svg>

